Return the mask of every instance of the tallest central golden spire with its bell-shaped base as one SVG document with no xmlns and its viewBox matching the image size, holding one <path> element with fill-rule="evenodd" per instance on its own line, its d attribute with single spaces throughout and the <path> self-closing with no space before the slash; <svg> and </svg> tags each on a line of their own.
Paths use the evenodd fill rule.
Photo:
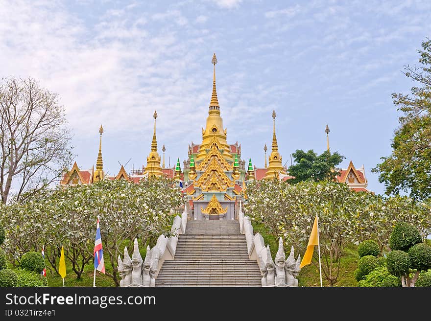
<svg viewBox="0 0 431 321">
<path fill-rule="evenodd" d="M 230 145 L 226 141 L 226 128 L 223 129 L 223 119 L 220 116 L 220 106 L 218 105 L 217 90 L 216 90 L 216 53 L 213 55 L 212 63 L 214 65 L 213 75 L 213 94 L 211 95 L 211 102 L 208 110 L 207 124 L 205 129 L 202 128 L 202 144 L 199 147 L 199 154 L 197 155 L 195 162 L 199 163 L 202 161 L 206 154 L 207 149 L 210 148 L 211 141 L 214 137 L 217 138 L 219 143 L 219 149 L 222 151 L 223 158 L 228 161 L 233 161 L 232 155 L 230 154 Z"/>
</svg>

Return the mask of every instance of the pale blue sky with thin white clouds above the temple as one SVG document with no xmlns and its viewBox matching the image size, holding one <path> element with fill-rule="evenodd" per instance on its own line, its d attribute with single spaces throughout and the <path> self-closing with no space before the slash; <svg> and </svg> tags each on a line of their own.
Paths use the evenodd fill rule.
<svg viewBox="0 0 431 321">
<path fill-rule="evenodd" d="M 33 77 L 57 92 L 81 168 L 96 163 L 103 124 L 104 169 L 141 167 L 157 110 L 159 153 L 173 164 L 200 143 L 216 52 L 218 100 L 228 141 L 263 166 L 277 112 L 284 160 L 326 148 L 371 168 L 390 154 L 398 114 L 392 92 L 413 85 L 430 36 L 430 1 L 4 1 L 1 76 Z"/>
</svg>

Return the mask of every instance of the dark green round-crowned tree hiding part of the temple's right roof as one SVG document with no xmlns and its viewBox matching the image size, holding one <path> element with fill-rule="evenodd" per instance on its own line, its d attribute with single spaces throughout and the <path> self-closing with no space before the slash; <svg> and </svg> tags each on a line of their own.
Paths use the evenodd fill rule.
<svg viewBox="0 0 431 321">
<path fill-rule="evenodd" d="M 300 149 L 297 149 L 292 156 L 295 164 L 289 166 L 288 171 L 289 175 L 295 178 L 287 181 L 290 184 L 304 181 L 334 181 L 339 172 L 339 169 L 334 169 L 345 159 L 337 152 L 331 154 L 329 151 L 325 151 L 317 156 L 313 150 L 304 152 Z"/>
</svg>

